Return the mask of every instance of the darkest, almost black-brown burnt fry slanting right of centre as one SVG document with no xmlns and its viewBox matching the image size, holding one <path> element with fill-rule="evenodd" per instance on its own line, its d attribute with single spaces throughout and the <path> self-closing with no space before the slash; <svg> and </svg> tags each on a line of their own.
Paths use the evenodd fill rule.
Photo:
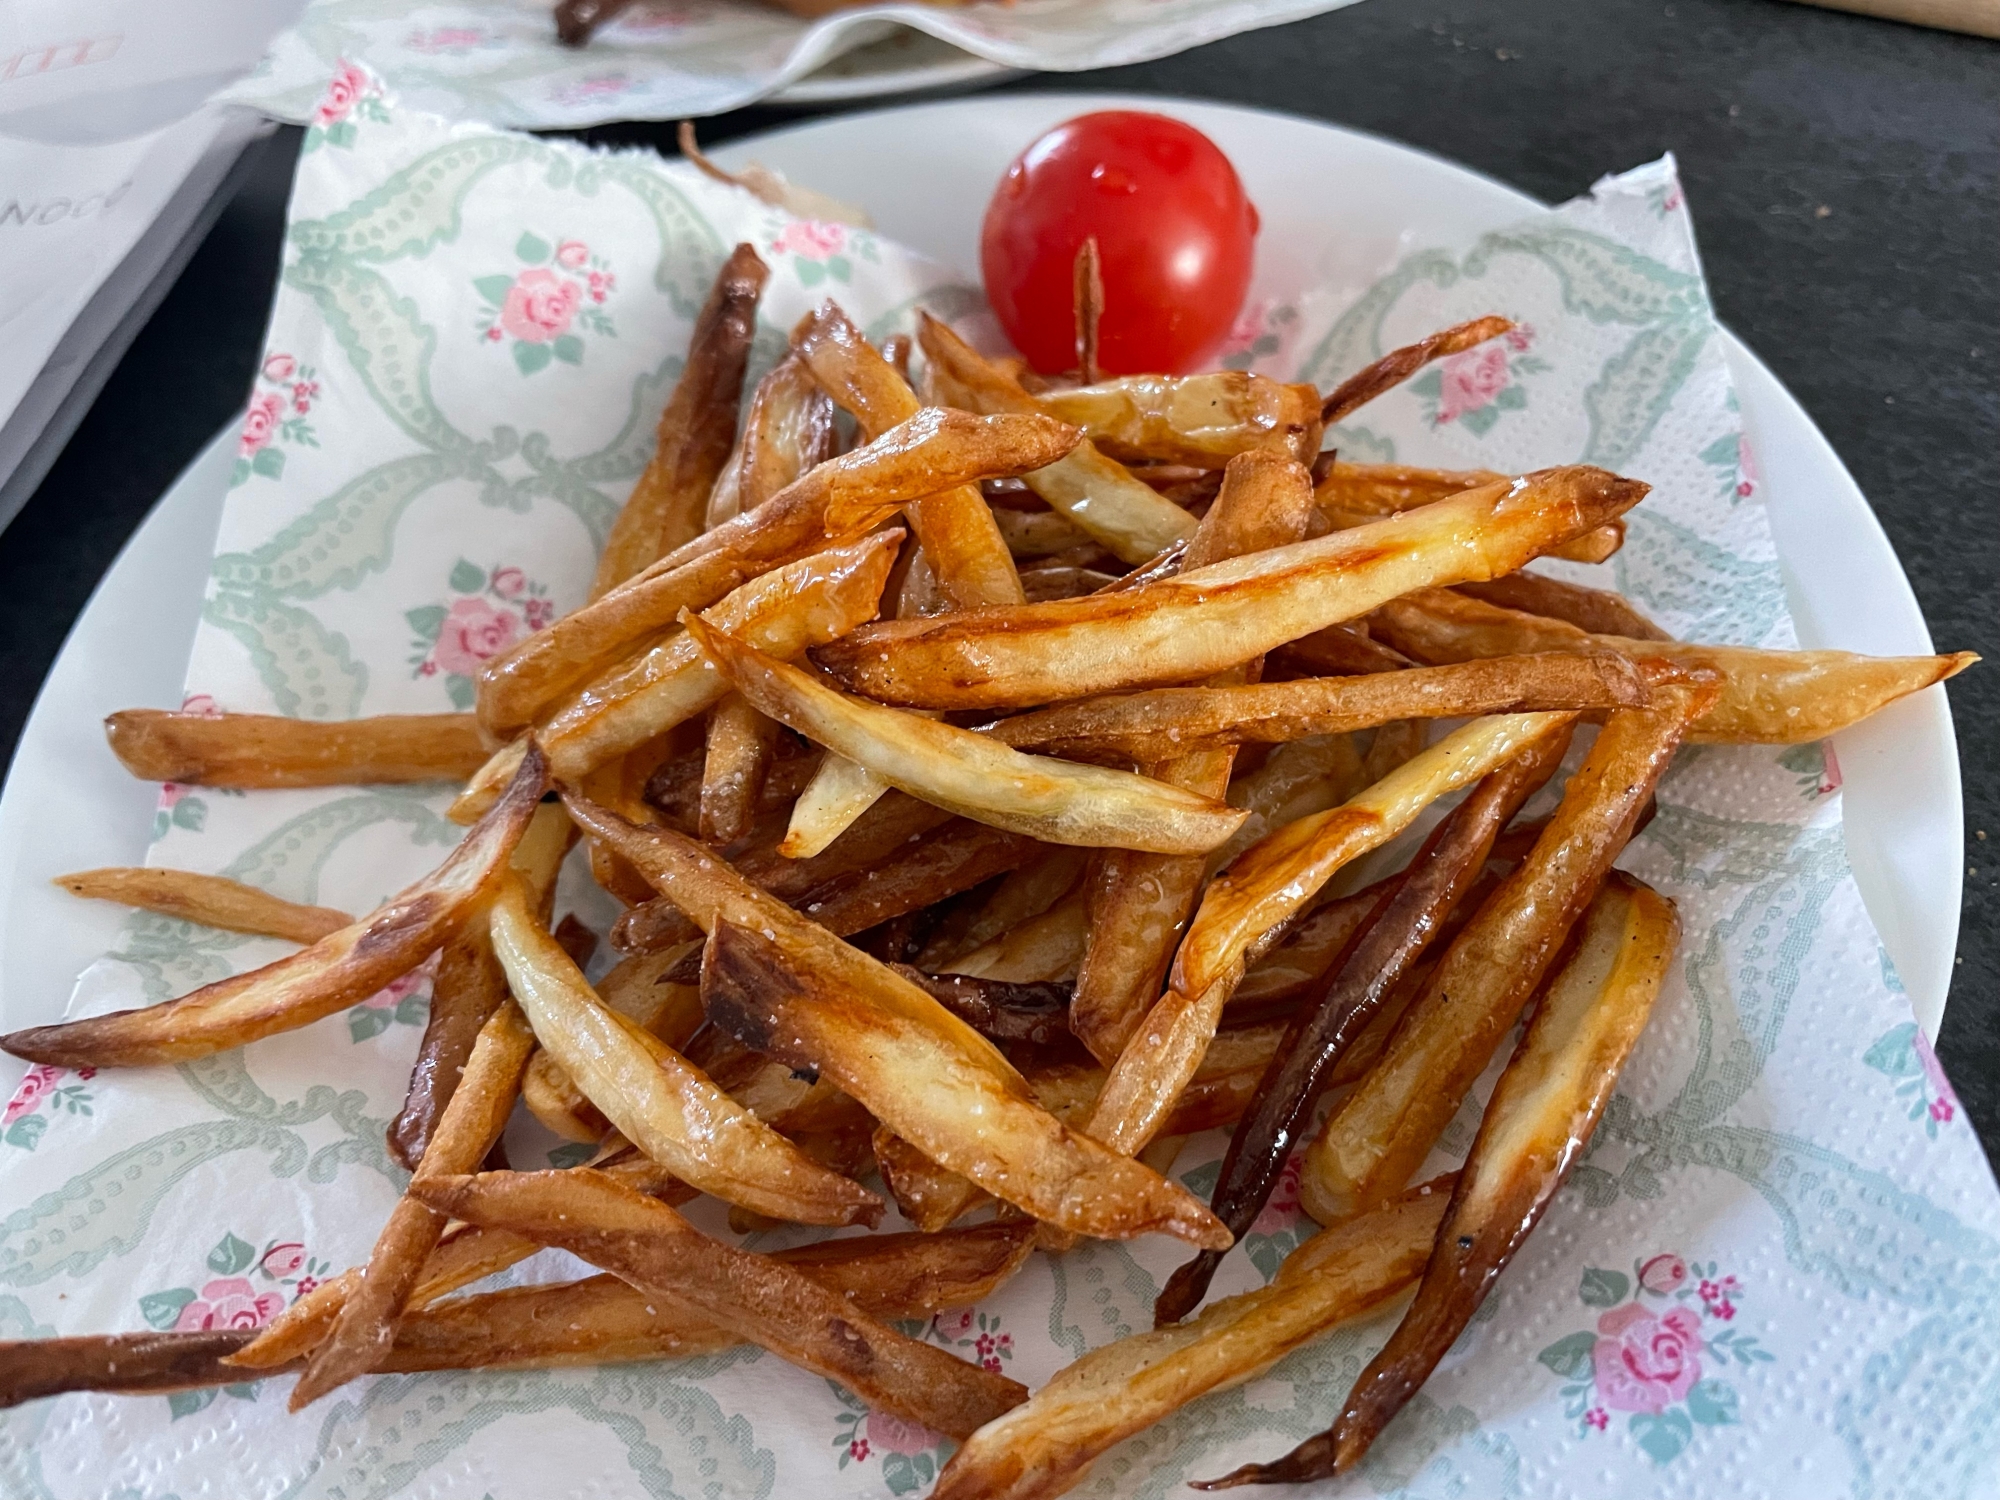
<svg viewBox="0 0 2000 1500">
<path fill-rule="evenodd" d="M 1230 1138 L 1222 1174 L 1208 1206 L 1230 1234 L 1242 1238 L 1264 1212 L 1300 1126 L 1346 1052 L 1402 984 L 1424 950 L 1472 890 L 1494 838 L 1562 764 L 1566 734 L 1530 744 L 1516 760 L 1486 776 L 1432 832 L 1404 874 L 1378 898 L 1366 926 L 1348 940 L 1318 992 L 1292 1018 L 1258 1086 L 1256 1106 Z M 1154 1302 L 1154 1322 L 1186 1318 L 1208 1294 L 1222 1256 L 1204 1250 L 1180 1266 Z"/>
</svg>

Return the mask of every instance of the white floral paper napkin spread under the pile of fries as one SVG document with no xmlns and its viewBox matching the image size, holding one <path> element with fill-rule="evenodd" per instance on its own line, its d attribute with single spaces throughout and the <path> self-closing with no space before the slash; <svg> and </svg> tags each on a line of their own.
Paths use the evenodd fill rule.
<svg viewBox="0 0 2000 1500">
<path fill-rule="evenodd" d="M 646 156 L 450 126 L 362 80 L 300 164 L 240 440 L 196 704 L 344 718 L 462 704 L 484 656 L 574 606 L 638 474 L 688 324 L 736 240 L 772 262 L 758 364 L 812 302 L 870 334 L 978 306 L 870 234 L 786 220 Z M 1650 480 L 1616 582 L 1674 630 L 1790 620 L 1672 164 L 1476 244 L 1290 288 L 1236 362 L 1322 384 L 1478 312 L 1344 450 Z M 1688 752 L 1626 864 L 1686 940 L 1588 1158 L 1480 1320 L 1344 1492 L 1984 1496 L 2000 1468 L 2000 1198 L 1848 874 L 1818 748 Z M 458 830 L 444 788 L 166 788 L 154 858 L 364 910 Z M 276 944 L 134 918 L 78 1014 L 176 994 Z M 0 1124 L 4 1336 L 260 1324 L 354 1264 L 400 1190 L 382 1148 L 422 980 L 182 1068 L 36 1070 Z M 1446 1136 L 1464 1150 L 1472 1114 Z M 514 1160 L 546 1142 L 516 1132 Z M 1220 1140 L 1176 1166 L 1196 1190 Z M 564 1158 L 566 1160 L 566 1158 Z M 1280 1192 L 1218 1292 L 1308 1230 Z M 764 1240 L 768 1244 L 768 1240 Z M 514 1276 L 576 1274 L 544 1256 Z M 1032 1384 L 1148 1326 L 1164 1240 L 1036 1258 L 912 1326 Z M 1324 1426 L 1388 1334 L 1344 1328 L 1098 1462 L 1084 1496 L 1172 1496 Z M 756 1350 L 644 1366 L 386 1376 L 300 1416 L 284 1380 L 68 1396 L 0 1418 L 34 1500 L 874 1498 L 948 1446 Z M 1334 1486 L 1340 1488 L 1340 1486 Z M 1326 1490 L 1332 1492 L 1332 1490 Z"/>
</svg>

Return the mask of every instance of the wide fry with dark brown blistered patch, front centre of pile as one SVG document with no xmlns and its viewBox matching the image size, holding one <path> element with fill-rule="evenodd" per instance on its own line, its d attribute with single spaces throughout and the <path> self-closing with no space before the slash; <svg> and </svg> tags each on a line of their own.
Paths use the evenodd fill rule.
<svg viewBox="0 0 2000 1500">
<path fill-rule="evenodd" d="M 772 1044 L 760 1050 L 816 1066 L 926 1156 L 1036 1218 L 1104 1238 L 1156 1228 L 1194 1242 L 1212 1238 L 1206 1210 L 1184 1188 L 1064 1130 L 1032 1102 L 992 1042 L 906 978 L 758 890 L 700 844 L 576 798 L 568 806 L 710 934 L 744 924 L 750 948 L 742 982 L 732 986 L 732 1022 Z M 762 932 L 774 938 L 766 942 Z M 768 958 L 772 944 L 782 948 L 782 964 Z M 702 978 L 708 1002 L 710 974 Z M 766 1024 L 776 1020 L 772 1006 L 784 1014 L 782 1032 Z M 780 1046 L 798 1050 L 786 1058 Z M 942 1076 L 958 1088 L 936 1090 Z"/>
</svg>

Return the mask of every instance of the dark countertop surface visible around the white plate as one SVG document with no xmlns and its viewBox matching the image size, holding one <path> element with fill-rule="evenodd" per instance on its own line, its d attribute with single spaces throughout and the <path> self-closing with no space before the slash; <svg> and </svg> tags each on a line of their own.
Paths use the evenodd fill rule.
<svg viewBox="0 0 2000 1500">
<path fill-rule="evenodd" d="M 1722 318 L 1854 472 L 1938 646 L 2000 656 L 2000 44 L 1780 0 L 1366 0 L 1162 62 L 1004 88 L 1288 110 L 1546 200 L 1672 150 Z M 702 134 L 798 118 L 740 110 Z M 670 126 L 588 138 L 672 152 Z M 242 406 L 296 150 L 296 130 L 256 148 L 244 188 L 0 534 L 8 754 L 96 580 Z M 1938 1052 L 2000 1160 L 2000 660 L 1950 694 L 1968 874 Z"/>
</svg>

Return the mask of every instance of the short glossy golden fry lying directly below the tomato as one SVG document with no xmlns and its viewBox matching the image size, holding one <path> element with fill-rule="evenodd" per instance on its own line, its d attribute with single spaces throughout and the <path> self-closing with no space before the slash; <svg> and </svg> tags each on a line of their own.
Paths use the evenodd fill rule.
<svg viewBox="0 0 2000 1500">
<path fill-rule="evenodd" d="M 1274 450 L 1300 462 L 1318 452 L 1320 392 L 1244 370 L 1120 376 L 1046 390 L 1036 402 L 1126 464 L 1150 460 L 1222 468 L 1252 450 Z"/>
</svg>

